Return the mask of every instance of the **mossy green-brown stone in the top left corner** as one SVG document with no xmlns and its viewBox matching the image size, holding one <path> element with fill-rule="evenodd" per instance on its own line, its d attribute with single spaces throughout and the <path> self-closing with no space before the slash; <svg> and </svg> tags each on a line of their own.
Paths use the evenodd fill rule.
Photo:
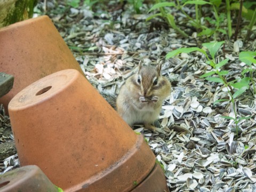
<svg viewBox="0 0 256 192">
<path fill-rule="evenodd" d="M 29 19 L 37 0 L 0 0 L 0 27 Z"/>
</svg>

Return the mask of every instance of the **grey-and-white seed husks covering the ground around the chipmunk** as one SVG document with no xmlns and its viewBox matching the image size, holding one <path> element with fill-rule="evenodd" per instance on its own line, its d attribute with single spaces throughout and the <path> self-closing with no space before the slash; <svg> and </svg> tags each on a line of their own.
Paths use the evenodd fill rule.
<svg viewBox="0 0 256 192">
<path fill-rule="evenodd" d="M 165 59 L 172 50 L 202 47 L 207 39 L 197 37 L 193 28 L 184 28 L 189 38 L 182 38 L 166 28 L 161 19 L 146 22 L 150 6 L 144 4 L 141 8 L 145 14 L 135 14 L 129 4 L 123 10 L 113 11 L 106 6 L 91 11 L 86 6 L 75 9 L 47 1 L 47 14 L 86 77 L 106 97 L 116 97 L 140 61 L 153 66 L 163 63 L 162 74 L 172 83 L 172 93 L 163 103 L 158 119 L 164 133 L 152 133 L 142 126 L 134 129 L 144 135 L 163 165 L 170 191 L 256 191 L 256 99 L 252 87 L 236 99 L 236 109 L 228 101 L 213 105 L 214 101 L 227 98 L 228 92 L 220 83 L 199 78 L 212 70 L 204 55 L 182 53 Z M 39 3 L 37 8 L 42 11 L 42 7 L 43 3 Z M 194 14 L 190 8 L 185 11 Z M 177 25 L 185 26 L 185 15 L 175 10 L 172 13 Z M 225 52 L 218 53 L 217 59 L 230 60 L 226 65 L 228 79 L 237 78 L 246 67 L 238 60 L 239 51 L 256 48 L 255 28 L 250 41 L 243 41 L 245 35 L 246 31 L 241 30 L 238 40 L 226 41 Z M 223 38 L 220 35 L 217 41 Z M 251 117 L 240 121 L 238 130 L 234 121 L 221 118 L 234 116 L 234 110 L 238 117 Z"/>
</svg>

